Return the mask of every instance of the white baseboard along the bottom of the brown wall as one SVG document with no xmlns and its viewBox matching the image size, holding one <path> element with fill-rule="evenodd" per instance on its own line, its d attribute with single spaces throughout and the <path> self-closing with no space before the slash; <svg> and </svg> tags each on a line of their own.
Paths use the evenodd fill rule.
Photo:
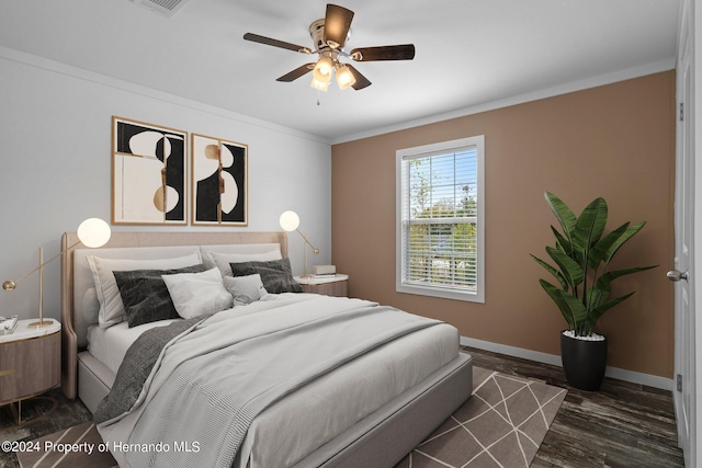
<svg viewBox="0 0 702 468">
<path fill-rule="evenodd" d="M 561 356 L 555 354 L 540 353 L 537 351 L 524 350 L 522 347 L 508 346 L 489 341 L 475 340 L 473 338 L 461 336 L 461 344 L 464 346 L 477 347 L 478 350 L 500 353 L 508 356 L 521 357 L 523 359 L 535 361 L 537 363 L 551 364 L 562 367 Z M 660 388 L 663 390 L 675 391 L 671 378 L 658 377 L 650 374 L 636 373 L 621 369 L 619 367 L 607 366 L 605 376 L 616 378 L 633 384 L 646 385 L 648 387 Z"/>
</svg>

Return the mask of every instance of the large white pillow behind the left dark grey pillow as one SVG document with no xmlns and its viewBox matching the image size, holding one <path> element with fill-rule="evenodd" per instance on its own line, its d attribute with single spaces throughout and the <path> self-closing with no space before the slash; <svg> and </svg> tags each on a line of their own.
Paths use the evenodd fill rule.
<svg viewBox="0 0 702 468">
<path fill-rule="evenodd" d="M 98 301 L 100 301 L 100 312 L 98 313 L 100 328 L 112 327 L 115 323 L 124 321 L 126 318 L 122 297 L 120 296 L 120 288 L 112 272 L 172 270 L 202 263 L 200 252 L 174 259 L 158 260 L 101 259 L 94 255 L 88 255 L 86 259 L 88 260 L 88 265 L 90 265 L 90 271 L 92 272 L 92 277 L 95 283 Z"/>
</svg>

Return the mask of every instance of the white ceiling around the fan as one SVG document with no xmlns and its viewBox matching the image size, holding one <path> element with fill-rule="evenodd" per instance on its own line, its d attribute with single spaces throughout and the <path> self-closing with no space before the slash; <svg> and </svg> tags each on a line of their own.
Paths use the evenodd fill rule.
<svg viewBox="0 0 702 468">
<path fill-rule="evenodd" d="M 412 43 L 408 61 L 355 62 L 373 84 L 326 93 L 309 56 L 321 0 L 190 0 L 167 19 L 129 0 L 4 0 L 0 46 L 215 105 L 330 142 L 543 90 L 675 67 L 679 0 L 338 0 L 347 49 Z M 575 84 L 574 84 L 575 83 Z M 317 105 L 319 94 L 320 105 Z"/>
</svg>

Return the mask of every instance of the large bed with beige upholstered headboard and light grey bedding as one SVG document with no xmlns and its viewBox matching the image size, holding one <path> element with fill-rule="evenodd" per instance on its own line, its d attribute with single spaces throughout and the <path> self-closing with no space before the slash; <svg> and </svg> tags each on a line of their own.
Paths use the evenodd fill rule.
<svg viewBox="0 0 702 468">
<path fill-rule="evenodd" d="M 61 248 L 77 240 L 65 233 Z M 173 259 L 192 255 L 206 266 L 173 266 L 178 274 L 167 282 L 173 294 L 192 289 L 181 277 L 200 281 L 227 267 L 240 279 L 257 276 L 239 274 L 247 273 L 240 265 L 278 265 L 287 258 L 287 235 L 113 232 L 103 248 L 63 258 L 61 388 L 102 418 L 99 430 L 111 448 L 122 447 L 112 450 L 121 465 L 392 467 L 469 397 L 472 359 L 460 353 L 453 327 L 361 299 L 281 290 L 251 300 L 245 294 L 242 303 L 203 316 L 189 309 L 191 299 L 173 296 L 186 319 L 133 327 L 133 316 L 109 326 L 98 319 L 105 298 L 97 297 L 90 262 L 111 265 L 102 273 L 117 271 L 122 278 L 121 269 L 149 270 L 122 261 L 171 267 Z M 229 293 L 236 300 L 239 290 Z M 144 387 L 124 390 L 135 379 L 125 375 L 145 367 L 132 355 L 143 354 L 148 336 L 167 332 L 158 339 L 163 347 L 151 352 L 152 368 L 139 377 Z M 252 364 L 241 364 L 242 353 Z M 231 369 L 236 377 L 211 377 Z M 258 393 L 223 400 L 234 387 Z M 132 400 L 127 393 L 135 393 Z M 245 414 L 244 422 L 234 413 Z"/>
</svg>

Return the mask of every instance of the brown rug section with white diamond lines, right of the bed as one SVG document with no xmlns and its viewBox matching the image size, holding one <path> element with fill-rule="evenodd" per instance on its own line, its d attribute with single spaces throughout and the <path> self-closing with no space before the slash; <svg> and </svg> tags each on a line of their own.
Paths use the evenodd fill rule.
<svg viewBox="0 0 702 468">
<path fill-rule="evenodd" d="M 396 468 L 529 467 L 566 393 L 473 367 L 473 396 Z"/>
</svg>

